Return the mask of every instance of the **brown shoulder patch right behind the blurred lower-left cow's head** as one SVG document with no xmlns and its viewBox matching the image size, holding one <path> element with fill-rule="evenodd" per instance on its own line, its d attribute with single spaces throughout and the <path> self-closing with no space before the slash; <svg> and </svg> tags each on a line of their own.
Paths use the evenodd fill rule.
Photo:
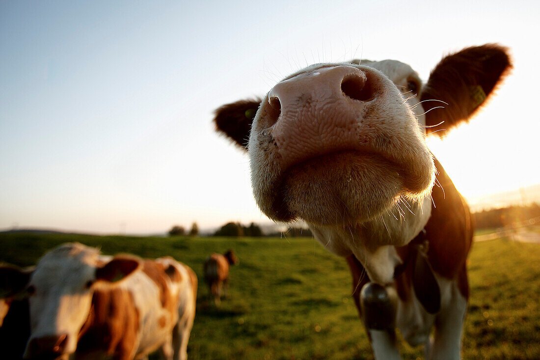
<svg viewBox="0 0 540 360">
<path fill-rule="evenodd" d="M 103 350 L 115 359 L 133 358 L 139 331 L 139 311 L 131 292 L 96 289 L 89 316 L 79 332 L 77 352 Z"/>
</svg>

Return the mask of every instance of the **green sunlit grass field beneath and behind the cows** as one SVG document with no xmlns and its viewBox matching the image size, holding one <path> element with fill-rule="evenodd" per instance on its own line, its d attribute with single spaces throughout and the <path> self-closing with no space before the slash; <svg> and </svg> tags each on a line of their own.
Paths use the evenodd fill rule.
<svg viewBox="0 0 540 360">
<path fill-rule="evenodd" d="M 35 264 L 48 249 L 77 241 L 105 254 L 170 255 L 199 276 L 190 359 L 372 359 L 350 297 L 347 265 L 312 238 L 123 237 L 0 234 L 0 261 Z M 208 301 L 204 259 L 234 249 L 231 298 Z M 497 239 L 469 257 L 471 299 L 464 359 L 540 358 L 540 245 Z M 421 348 L 402 344 L 404 359 Z M 0 356 L 1 357 L 1 356 Z"/>
</svg>

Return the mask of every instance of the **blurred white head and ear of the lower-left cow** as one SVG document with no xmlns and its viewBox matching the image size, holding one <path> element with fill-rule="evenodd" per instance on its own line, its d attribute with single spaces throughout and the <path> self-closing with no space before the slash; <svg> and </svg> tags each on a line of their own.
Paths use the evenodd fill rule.
<svg viewBox="0 0 540 360">
<path fill-rule="evenodd" d="M 25 358 L 62 358 L 75 352 L 96 286 L 107 286 L 139 266 L 134 257 L 103 262 L 99 251 L 78 243 L 58 246 L 36 265 L 27 291 L 31 336 Z"/>
</svg>

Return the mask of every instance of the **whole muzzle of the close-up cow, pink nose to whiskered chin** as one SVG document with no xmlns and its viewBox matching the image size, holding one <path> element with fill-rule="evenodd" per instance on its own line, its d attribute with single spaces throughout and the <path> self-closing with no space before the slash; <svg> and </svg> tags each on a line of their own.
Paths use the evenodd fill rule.
<svg viewBox="0 0 540 360">
<path fill-rule="evenodd" d="M 392 81 L 367 66 L 323 65 L 276 84 L 248 147 L 255 199 L 275 221 L 363 222 L 433 185 L 413 112 Z"/>
</svg>

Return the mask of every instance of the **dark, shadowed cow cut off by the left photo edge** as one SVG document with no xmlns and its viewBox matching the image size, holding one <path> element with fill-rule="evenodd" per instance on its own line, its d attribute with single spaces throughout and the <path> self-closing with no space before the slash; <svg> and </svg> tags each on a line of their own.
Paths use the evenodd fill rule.
<svg viewBox="0 0 540 360">
<path fill-rule="evenodd" d="M 33 266 L 20 269 L 0 265 L 0 352 L 5 359 L 21 359 L 30 337 L 26 285 Z"/>
</svg>

